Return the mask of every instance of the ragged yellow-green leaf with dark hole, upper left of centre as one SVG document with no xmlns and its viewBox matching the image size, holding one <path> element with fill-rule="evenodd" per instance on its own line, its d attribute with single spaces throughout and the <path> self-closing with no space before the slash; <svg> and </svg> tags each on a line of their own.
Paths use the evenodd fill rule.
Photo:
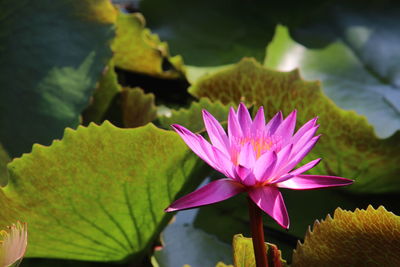
<svg viewBox="0 0 400 267">
<path fill-rule="evenodd" d="M 117 36 L 112 44 L 115 65 L 121 69 L 156 76 L 179 78 L 183 76 L 183 60 L 170 57 L 168 45 L 145 28 L 140 13 L 118 13 Z"/>
</svg>

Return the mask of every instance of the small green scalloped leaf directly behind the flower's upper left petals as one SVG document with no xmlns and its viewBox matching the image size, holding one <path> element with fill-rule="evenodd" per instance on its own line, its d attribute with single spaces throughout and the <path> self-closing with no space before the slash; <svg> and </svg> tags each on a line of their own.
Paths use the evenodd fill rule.
<svg viewBox="0 0 400 267">
<path fill-rule="evenodd" d="M 158 119 L 161 126 L 166 129 L 169 129 L 172 124 L 179 124 L 192 132 L 204 132 L 203 109 L 206 109 L 218 121 L 226 125 L 229 106 L 223 105 L 219 101 L 213 103 L 208 98 L 201 98 L 199 102 L 192 102 L 188 109 L 172 110 L 169 116 L 160 116 Z"/>
</svg>

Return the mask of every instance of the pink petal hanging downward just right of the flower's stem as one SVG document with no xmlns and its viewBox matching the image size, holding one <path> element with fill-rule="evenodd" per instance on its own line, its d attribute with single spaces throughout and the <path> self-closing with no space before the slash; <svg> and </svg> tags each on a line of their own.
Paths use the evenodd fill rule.
<svg viewBox="0 0 400 267">
<path fill-rule="evenodd" d="M 289 228 L 289 216 L 285 202 L 278 188 L 273 186 L 254 187 L 249 191 L 250 198 L 283 228 Z"/>
</svg>

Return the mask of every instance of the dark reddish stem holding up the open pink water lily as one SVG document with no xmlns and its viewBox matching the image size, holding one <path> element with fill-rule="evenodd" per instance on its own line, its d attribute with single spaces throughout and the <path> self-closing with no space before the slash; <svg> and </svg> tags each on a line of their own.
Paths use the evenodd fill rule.
<svg viewBox="0 0 400 267">
<path fill-rule="evenodd" d="M 257 267 L 268 267 L 267 251 L 264 243 L 264 227 L 261 209 L 248 197 L 251 237 Z"/>
</svg>

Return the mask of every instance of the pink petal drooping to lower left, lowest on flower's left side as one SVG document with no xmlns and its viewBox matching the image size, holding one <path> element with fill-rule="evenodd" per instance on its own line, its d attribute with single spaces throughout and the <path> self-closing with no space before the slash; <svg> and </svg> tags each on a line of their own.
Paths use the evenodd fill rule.
<svg viewBox="0 0 400 267">
<path fill-rule="evenodd" d="M 220 179 L 211 182 L 196 191 L 181 197 L 172 203 L 166 212 L 195 208 L 203 205 L 208 205 L 231 198 L 240 192 L 243 192 L 245 187 L 240 183 L 231 179 Z"/>
</svg>

